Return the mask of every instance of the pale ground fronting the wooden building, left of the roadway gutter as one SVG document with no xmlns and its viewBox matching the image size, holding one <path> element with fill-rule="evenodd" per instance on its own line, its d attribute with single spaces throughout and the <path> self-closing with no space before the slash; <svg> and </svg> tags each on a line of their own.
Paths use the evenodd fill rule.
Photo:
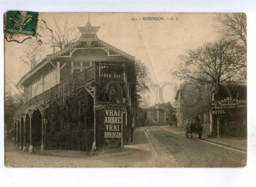
<svg viewBox="0 0 256 187">
<path fill-rule="evenodd" d="M 46 150 L 47 152 L 47 150 Z M 134 142 L 125 146 L 121 153 L 109 153 L 80 157 L 43 155 L 18 150 L 5 142 L 5 165 L 7 167 L 152 167 L 151 152 L 142 131 L 135 131 Z"/>
</svg>

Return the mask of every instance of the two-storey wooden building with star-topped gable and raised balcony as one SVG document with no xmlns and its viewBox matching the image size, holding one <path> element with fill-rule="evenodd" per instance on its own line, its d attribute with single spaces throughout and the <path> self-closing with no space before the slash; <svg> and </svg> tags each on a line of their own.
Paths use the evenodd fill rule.
<svg viewBox="0 0 256 187">
<path fill-rule="evenodd" d="M 135 58 L 100 40 L 88 20 L 74 44 L 24 75 L 25 103 L 13 117 L 17 147 L 122 150 L 136 103 Z"/>
</svg>

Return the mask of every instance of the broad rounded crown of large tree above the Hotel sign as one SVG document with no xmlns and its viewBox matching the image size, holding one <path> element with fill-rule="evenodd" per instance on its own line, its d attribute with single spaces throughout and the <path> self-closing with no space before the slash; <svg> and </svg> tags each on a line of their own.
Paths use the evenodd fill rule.
<svg viewBox="0 0 256 187">
<path fill-rule="evenodd" d="M 207 43 L 181 55 L 181 63 L 172 75 L 180 80 L 223 84 L 246 81 L 246 61 L 236 42 Z"/>
</svg>

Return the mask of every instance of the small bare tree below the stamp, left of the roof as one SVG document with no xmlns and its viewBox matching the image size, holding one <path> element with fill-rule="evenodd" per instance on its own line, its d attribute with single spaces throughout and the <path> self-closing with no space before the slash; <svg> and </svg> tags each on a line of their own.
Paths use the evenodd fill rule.
<svg viewBox="0 0 256 187">
<path fill-rule="evenodd" d="M 42 60 L 41 47 L 39 44 L 29 43 L 25 55 L 20 56 L 19 61 L 27 64 L 30 69 Z"/>
</svg>

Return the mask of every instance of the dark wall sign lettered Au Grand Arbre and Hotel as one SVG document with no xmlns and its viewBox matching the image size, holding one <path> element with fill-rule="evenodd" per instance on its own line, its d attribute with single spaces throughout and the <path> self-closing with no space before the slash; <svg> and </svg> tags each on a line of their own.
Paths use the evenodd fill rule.
<svg viewBox="0 0 256 187">
<path fill-rule="evenodd" d="M 212 101 L 212 114 L 226 114 L 234 110 L 246 111 L 247 100 L 235 97 L 225 97 Z"/>
</svg>

